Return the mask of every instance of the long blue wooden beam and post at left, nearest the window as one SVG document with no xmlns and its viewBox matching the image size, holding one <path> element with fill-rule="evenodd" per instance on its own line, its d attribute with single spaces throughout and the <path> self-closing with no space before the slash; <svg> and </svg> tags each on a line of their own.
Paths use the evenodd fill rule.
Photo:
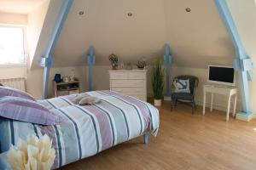
<svg viewBox="0 0 256 170">
<path fill-rule="evenodd" d="M 67 14 L 69 12 L 69 9 L 71 8 L 72 3 L 73 3 L 73 0 L 63 0 L 60 13 L 58 14 L 58 18 L 55 22 L 55 28 L 51 34 L 51 38 L 50 38 L 49 42 L 47 42 L 48 46 L 45 50 L 44 56 L 42 56 L 42 58 L 39 61 L 39 65 L 44 67 L 42 99 L 47 98 L 48 85 L 49 85 L 49 69 L 54 64 L 54 59 L 52 57 L 52 53 L 55 48 L 55 43 L 61 33 L 63 24 L 64 24 L 65 20 L 67 19 Z"/>
</svg>

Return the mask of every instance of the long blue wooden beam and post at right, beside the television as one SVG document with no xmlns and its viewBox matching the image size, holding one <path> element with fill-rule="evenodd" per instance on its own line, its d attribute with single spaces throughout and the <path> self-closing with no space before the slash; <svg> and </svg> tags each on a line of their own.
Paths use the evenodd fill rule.
<svg viewBox="0 0 256 170">
<path fill-rule="evenodd" d="M 249 116 L 252 115 L 250 111 L 250 99 L 249 99 L 249 88 L 248 81 L 253 79 L 253 61 L 247 55 L 247 52 L 241 42 L 241 38 L 236 29 L 236 24 L 230 13 L 230 9 L 226 0 L 215 0 L 219 14 L 224 20 L 224 24 L 227 27 L 230 38 L 236 48 L 236 59 L 234 59 L 234 67 L 238 71 L 240 81 L 240 92 L 242 101 L 242 110 L 238 116 L 246 117 L 249 121 Z"/>
</svg>

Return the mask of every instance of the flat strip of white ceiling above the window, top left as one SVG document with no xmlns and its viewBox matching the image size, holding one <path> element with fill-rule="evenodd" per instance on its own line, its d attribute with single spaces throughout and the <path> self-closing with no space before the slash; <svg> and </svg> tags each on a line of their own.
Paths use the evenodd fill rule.
<svg viewBox="0 0 256 170">
<path fill-rule="evenodd" d="M 45 0 L 0 0 L 0 12 L 28 14 Z"/>
</svg>

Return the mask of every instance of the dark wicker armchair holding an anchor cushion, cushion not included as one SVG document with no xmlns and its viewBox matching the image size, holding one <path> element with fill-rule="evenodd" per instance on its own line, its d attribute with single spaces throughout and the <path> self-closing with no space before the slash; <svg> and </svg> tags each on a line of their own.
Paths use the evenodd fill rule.
<svg viewBox="0 0 256 170">
<path fill-rule="evenodd" d="M 192 114 L 194 114 L 195 111 L 195 89 L 198 86 L 199 79 L 197 77 L 189 76 L 189 75 L 181 75 L 174 77 L 173 82 L 176 80 L 188 80 L 189 79 L 189 89 L 190 94 L 187 93 L 175 93 L 174 90 L 172 90 L 172 102 L 171 102 L 171 111 L 173 105 L 177 105 L 177 102 L 187 103 L 192 105 Z M 172 85 L 173 85 L 172 82 Z M 173 89 L 173 88 L 172 88 Z"/>
</svg>

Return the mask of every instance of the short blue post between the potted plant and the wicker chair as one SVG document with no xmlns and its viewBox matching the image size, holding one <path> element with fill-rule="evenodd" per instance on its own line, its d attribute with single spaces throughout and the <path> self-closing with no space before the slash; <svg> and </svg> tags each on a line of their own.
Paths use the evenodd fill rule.
<svg viewBox="0 0 256 170">
<path fill-rule="evenodd" d="M 171 100 L 171 83 L 170 83 L 170 74 L 171 74 L 171 64 L 172 64 L 172 55 L 171 48 L 168 44 L 165 45 L 166 54 L 164 55 L 164 61 L 166 65 L 166 94 L 165 99 Z"/>
</svg>

